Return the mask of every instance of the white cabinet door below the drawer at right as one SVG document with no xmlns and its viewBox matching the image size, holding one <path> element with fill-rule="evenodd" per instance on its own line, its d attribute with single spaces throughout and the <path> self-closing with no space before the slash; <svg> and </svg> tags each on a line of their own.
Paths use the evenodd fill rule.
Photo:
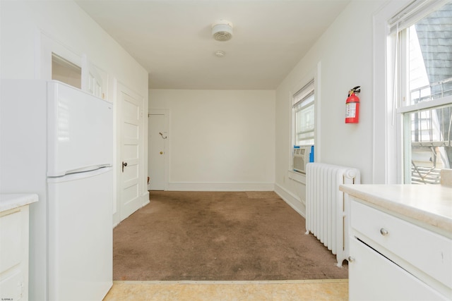
<svg viewBox="0 0 452 301">
<path fill-rule="evenodd" d="M 353 300 L 448 300 L 357 238 L 350 238 L 349 296 Z"/>
</svg>

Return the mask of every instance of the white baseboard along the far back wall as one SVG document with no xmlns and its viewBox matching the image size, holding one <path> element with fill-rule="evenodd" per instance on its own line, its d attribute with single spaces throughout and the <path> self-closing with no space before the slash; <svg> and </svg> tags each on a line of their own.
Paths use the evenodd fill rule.
<svg viewBox="0 0 452 301">
<path fill-rule="evenodd" d="M 274 183 L 168 183 L 169 191 L 273 191 Z"/>
</svg>

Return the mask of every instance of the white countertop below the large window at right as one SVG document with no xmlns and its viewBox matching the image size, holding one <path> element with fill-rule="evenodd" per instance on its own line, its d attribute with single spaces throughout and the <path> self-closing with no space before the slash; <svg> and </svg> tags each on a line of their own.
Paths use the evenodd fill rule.
<svg viewBox="0 0 452 301">
<path fill-rule="evenodd" d="M 340 185 L 340 191 L 452 236 L 452 188 L 444 185 Z"/>
</svg>

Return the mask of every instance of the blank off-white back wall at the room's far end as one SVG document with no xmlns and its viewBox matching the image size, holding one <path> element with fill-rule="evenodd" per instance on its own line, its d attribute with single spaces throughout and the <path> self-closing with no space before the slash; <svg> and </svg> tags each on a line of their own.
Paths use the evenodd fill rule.
<svg viewBox="0 0 452 301">
<path fill-rule="evenodd" d="M 168 190 L 273 190 L 275 92 L 150 90 L 167 109 Z"/>
</svg>

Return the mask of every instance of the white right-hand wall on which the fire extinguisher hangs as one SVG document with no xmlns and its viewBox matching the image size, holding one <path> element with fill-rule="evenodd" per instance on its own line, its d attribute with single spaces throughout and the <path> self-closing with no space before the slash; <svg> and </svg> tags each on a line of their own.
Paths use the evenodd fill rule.
<svg viewBox="0 0 452 301">
<path fill-rule="evenodd" d="M 372 183 L 373 15 L 383 2 L 352 1 L 276 91 L 275 190 L 302 214 L 305 187 L 290 179 L 288 171 L 290 95 L 319 63 L 316 161 L 358 168 L 362 183 Z M 347 92 L 357 85 L 361 86 L 359 123 L 345 124 Z"/>
</svg>

